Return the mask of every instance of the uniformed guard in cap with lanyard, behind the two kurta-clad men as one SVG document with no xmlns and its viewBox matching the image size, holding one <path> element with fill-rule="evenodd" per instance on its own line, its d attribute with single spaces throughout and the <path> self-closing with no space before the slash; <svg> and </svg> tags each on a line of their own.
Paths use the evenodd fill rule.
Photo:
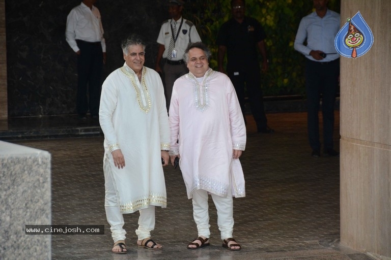
<svg viewBox="0 0 391 260">
<path fill-rule="evenodd" d="M 201 42 L 197 28 L 192 22 L 182 18 L 182 0 L 169 1 L 169 13 L 172 19 L 162 23 L 157 43 L 159 48 L 155 64 L 155 71 L 164 73 L 165 100 L 167 110 L 170 107 L 171 93 L 177 78 L 188 73 L 183 54 L 190 42 Z M 162 60 L 163 58 L 163 60 Z M 163 61 L 163 68 L 160 62 Z"/>
</svg>

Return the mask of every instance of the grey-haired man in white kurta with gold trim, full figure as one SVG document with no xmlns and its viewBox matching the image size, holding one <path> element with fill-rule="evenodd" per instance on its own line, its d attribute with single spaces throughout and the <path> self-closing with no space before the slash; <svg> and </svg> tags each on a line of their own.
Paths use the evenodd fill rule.
<svg viewBox="0 0 391 260">
<path fill-rule="evenodd" d="M 166 207 L 161 158 L 167 165 L 170 130 L 163 85 L 158 73 L 143 66 L 144 48 L 134 36 L 124 41 L 126 62 L 102 86 L 99 121 L 104 133 L 105 209 L 117 253 L 126 252 L 121 245 L 116 247 L 124 246 L 122 214 L 135 211 L 140 213 L 137 244 L 161 248 L 143 240 L 154 229 L 154 206 Z"/>
</svg>

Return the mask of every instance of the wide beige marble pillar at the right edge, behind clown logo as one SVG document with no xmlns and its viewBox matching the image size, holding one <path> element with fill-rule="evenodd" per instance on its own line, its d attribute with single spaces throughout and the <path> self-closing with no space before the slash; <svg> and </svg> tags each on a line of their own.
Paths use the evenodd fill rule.
<svg viewBox="0 0 391 260">
<path fill-rule="evenodd" d="M 341 243 L 389 259 L 391 1 L 342 0 L 341 22 L 358 11 L 374 44 L 361 57 L 341 58 Z"/>
</svg>

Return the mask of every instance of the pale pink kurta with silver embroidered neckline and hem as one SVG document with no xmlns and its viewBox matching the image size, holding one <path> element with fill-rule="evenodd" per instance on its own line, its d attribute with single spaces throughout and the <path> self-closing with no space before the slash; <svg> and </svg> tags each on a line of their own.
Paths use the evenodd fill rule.
<svg viewBox="0 0 391 260">
<path fill-rule="evenodd" d="M 197 189 L 227 197 L 230 183 L 233 196 L 245 196 L 242 167 L 232 155 L 245 149 L 246 128 L 227 75 L 209 69 L 202 83 L 191 73 L 177 79 L 170 128 L 170 154 L 180 154 L 189 199 Z"/>
</svg>

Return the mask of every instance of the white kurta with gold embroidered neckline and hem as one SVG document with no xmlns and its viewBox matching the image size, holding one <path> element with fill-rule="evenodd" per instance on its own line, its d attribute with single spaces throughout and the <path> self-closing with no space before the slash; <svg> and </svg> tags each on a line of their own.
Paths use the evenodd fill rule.
<svg viewBox="0 0 391 260">
<path fill-rule="evenodd" d="M 170 149 L 170 128 L 159 74 L 143 68 L 141 83 L 126 63 L 102 85 L 99 121 L 104 133 L 104 174 L 114 181 L 121 213 L 149 205 L 166 207 L 161 150 Z M 114 166 L 121 149 L 125 167 Z"/>
</svg>

